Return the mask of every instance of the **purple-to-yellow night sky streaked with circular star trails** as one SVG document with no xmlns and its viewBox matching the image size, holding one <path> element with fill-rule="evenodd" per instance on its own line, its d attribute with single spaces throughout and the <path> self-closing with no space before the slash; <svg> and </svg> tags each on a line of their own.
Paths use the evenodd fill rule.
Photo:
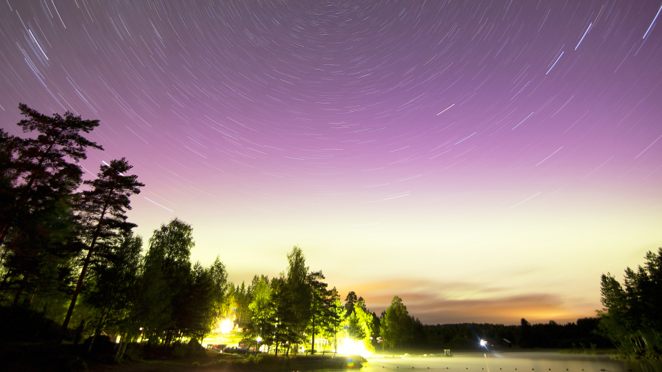
<svg viewBox="0 0 662 372">
<path fill-rule="evenodd" d="M 0 123 L 100 119 L 137 233 L 235 283 L 299 245 L 378 314 L 574 321 L 662 245 L 661 6 L 5 0 Z"/>
</svg>

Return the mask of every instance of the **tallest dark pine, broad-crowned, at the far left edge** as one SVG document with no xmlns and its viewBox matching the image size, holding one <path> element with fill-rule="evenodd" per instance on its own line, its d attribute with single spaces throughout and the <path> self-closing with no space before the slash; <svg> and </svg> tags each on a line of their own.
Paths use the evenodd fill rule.
<svg viewBox="0 0 662 372">
<path fill-rule="evenodd" d="M 67 112 L 64 117 L 40 114 L 19 105 L 26 119 L 18 125 L 23 132 L 37 132 L 19 138 L 0 132 L 0 246 L 6 271 L 3 287 L 18 285 L 12 307 L 24 290 L 32 295 L 51 287 L 45 280 L 68 258 L 77 254 L 72 194 L 81 183 L 77 163 L 86 158 L 88 147 L 102 149 L 81 133 L 89 133 L 99 121 L 84 121 Z M 53 265 L 54 262 L 59 262 Z"/>
</svg>

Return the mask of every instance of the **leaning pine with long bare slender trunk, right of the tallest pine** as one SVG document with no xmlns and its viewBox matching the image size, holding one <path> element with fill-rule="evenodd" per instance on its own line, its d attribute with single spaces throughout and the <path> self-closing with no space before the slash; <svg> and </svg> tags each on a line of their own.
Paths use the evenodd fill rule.
<svg viewBox="0 0 662 372">
<path fill-rule="evenodd" d="M 131 209 L 130 196 L 139 194 L 140 187 L 144 185 L 138 182 L 138 176 L 126 174 L 131 168 L 126 159 L 121 158 L 111 161 L 110 165 L 101 165 L 97 178 L 85 181 L 90 189 L 84 191 L 81 198 L 81 235 L 86 242 L 88 254 L 83 260 L 76 289 L 62 323 L 59 342 L 71 320 L 92 258 L 97 254 L 110 253 L 123 234 L 136 226 L 127 222 L 125 213 Z"/>
</svg>

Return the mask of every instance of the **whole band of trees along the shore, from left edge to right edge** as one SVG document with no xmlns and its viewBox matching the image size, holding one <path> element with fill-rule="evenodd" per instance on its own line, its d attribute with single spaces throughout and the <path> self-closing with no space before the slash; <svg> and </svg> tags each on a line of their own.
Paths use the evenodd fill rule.
<svg viewBox="0 0 662 372">
<path fill-rule="evenodd" d="M 477 350 L 481 340 L 487 349 L 616 346 L 623 355 L 662 355 L 662 249 L 628 268 L 624 286 L 602 276 L 599 318 L 424 325 L 398 296 L 377 316 L 354 291 L 341 297 L 328 288 L 296 246 L 279 276 L 255 275 L 249 285 L 228 282 L 220 257 L 209 267 L 191 262 L 192 226 L 177 218 L 154 229 L 143 250 L 126 216 L 143 187 L 128 161 L 104 163 L 83 181 L 79 161 L 103 149 L 85 138 L 99 121 L 19 110 L 28 136 L 0 130 L 1 342 L 86 340 L 92 351 L 94 340 L 113 336 L 117 360 L 155 348 L 183 355 L 183 345 L 221 335 L 276 355 L 343 344 L 371 353 Z"/>
</svg>

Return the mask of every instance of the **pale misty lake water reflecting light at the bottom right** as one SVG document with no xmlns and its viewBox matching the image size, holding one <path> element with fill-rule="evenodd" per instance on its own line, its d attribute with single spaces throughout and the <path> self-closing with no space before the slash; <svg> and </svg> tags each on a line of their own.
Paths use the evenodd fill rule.
<svg viewBox="0 0 662 372">
<path fill-rule="evenodd" d="M 662 372 L 660 361 L 612 360 L 608 355 L 551 352 L 454 353 L 453 357 L 386 355 L 370 358 L 365 372 L 425 369 L 434 372 Z"/>
</svg>

